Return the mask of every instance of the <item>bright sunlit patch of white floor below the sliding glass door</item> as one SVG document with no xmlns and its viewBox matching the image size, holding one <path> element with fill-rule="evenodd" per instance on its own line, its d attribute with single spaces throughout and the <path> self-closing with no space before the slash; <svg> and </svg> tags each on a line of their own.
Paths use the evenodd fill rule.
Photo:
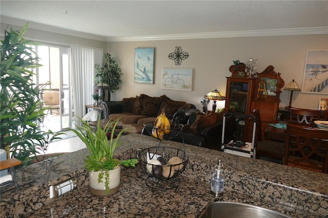
<svg viewBox="0 0 328 218">
<path fill-rule="evenodd" d="M 80 138 L 73 137 L 50 143 L 46 154 L 57 152 L 73 152 L 86 147 L 87 146 L 80 140 Z"/>
</svg>

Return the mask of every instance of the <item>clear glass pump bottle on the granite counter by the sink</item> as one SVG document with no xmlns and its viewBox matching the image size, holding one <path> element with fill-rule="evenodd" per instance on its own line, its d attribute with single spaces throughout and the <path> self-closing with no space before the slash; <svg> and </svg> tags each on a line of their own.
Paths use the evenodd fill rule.
<svg viewBox="0 0 328 218">
<path fill-rule="evenodd" d="M 215 170 L 212 175 L 211 181 L 211 193 L 215 197 L 219 197 L 223 195 L 223 188 L 224 188 L 224 176 L 223 176 L 223 164 L 221 160 L 216 160 Z"/>
</svg>

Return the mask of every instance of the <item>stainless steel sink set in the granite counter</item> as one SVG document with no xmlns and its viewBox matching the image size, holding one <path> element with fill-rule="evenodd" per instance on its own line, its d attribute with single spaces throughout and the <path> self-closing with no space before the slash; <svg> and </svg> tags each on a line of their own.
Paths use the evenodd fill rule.
<svg viewBox="0 0 328 218">
<path fill-rule="evenodd" d="M 280 218 L 289 217 L 279 212 L 257 207 L 248 204 L 233 203 L 233 202 L 214 202 L 210 204 L 199 216 L 199 218 Z"/>
</svg>

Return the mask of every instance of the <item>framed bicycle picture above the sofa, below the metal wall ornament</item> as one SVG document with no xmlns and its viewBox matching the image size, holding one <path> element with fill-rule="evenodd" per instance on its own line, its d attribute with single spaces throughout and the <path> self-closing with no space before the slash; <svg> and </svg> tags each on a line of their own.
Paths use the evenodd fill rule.
<svg viewBox="0 0 328 218">
<path fill-rule="evenodd" d="M 162 89 L 191 91 L 193 69 L 162 69 Z"/>
</svg>

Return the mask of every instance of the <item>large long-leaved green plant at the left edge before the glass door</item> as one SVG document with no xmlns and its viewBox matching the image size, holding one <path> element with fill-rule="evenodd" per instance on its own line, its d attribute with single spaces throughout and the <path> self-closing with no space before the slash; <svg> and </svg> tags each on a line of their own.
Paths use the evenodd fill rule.
<svg viewBox="0 0 328 218">
<path fill-rule="evenodd" d="M 33 83 L 32 70 L 41 64 L 32 47 L 36 43 L 23 38 L 27 26 L 28 23 L 20 32 L 12 28 L 5 30 L 5 37 L 0 40 L 1 145 L 9 145 L 12 155 L 22 161 L 23 167 L 32 161 L 31 156 L 47 149 L 47 137 L 52 133 L 40 130 L 38 124 L 48 107 L 42 107 L 40 98 L 44 86 Z"/>
</svg>

